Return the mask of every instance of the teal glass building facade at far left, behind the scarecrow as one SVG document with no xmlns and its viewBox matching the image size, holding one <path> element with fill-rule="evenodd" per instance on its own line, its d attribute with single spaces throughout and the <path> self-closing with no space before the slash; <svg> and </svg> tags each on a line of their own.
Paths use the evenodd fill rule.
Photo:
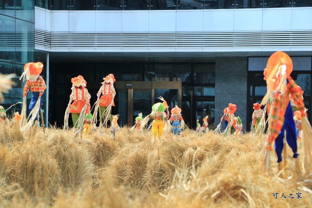
<svg viewBox="0 0 312 208">
<path fill-rule="evenodd" d="M 4 109 L 12 104 L 23 101 L 24 84 L 19 80 L 24 65 L 28 62 L 46 61 L 46 53 L 35 51 L 35 7 L 33 0 L 2 0 L 0 1 L 0 73 L 16 74 L 15 85 L 8 93 L 4 93 Z M 42 53 L 43 58 L 42 58 Z M 45 63 L 44 63 L 45 64 Z M 46 69 L 42 71 L 45 79 Z M 32 98 L 32 93 L 27 94 L 27 102 Z M 21 112 L 22 105 L 17 104 L 7 111 Z M 42 108 L 45 111 L 45 107 Z"/>
</svg>

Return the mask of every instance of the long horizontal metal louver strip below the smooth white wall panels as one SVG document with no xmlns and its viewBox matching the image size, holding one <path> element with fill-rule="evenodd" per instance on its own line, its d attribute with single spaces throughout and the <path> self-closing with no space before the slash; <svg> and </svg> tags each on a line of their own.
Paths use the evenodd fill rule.
<svg viewBox="0 0 312 208">
<path fill-rule="evenodd" d="M 0 32 L 0 46 L 23 47 L 23 40 L 31 37 Z M 35 46 L 78 50 L 312 47 L 312 31 L 78 33 L 35 29 Z"/>
</svg>

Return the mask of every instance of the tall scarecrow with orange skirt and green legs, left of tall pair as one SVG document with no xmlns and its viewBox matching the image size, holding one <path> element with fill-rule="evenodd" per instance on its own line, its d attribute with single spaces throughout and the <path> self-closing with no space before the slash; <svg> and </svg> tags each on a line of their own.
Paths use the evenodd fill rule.
<svg viewBox="0 0 312 208">
<path fill-rule="evenodd" d="M 65 112 L 64 129 L 68 128 L 68 117 L 71 113 L 74 128 L 82 128 L 85 123 L 85 114 L 89 114 L 88 103 L 91 95 L 89 94 L 83 76 L 79 75 L 71 79 L 71 95 Z M 72 102 L 72 103 L 71 103 Z"/>
</svg>

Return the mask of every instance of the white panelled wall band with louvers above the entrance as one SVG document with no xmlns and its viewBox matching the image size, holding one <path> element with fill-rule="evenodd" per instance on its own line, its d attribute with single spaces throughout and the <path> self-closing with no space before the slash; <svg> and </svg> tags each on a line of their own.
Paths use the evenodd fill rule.
<svg viewBox="0 0 312 208">
<path fill-rule="evenodd" d="M 312 7 L 50 11 L 35 8 L 44 51 L 312 51 Z"/>
</svg>

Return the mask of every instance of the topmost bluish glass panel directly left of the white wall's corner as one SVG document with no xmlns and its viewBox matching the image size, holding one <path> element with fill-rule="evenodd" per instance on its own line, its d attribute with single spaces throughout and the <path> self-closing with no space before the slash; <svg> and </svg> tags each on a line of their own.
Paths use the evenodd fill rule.
<svg viewBox="0 0 312 208">
<path fill-rule="evenodd" d="M 34 0 L 15 0 L 16 18 L 35 22 L 35 4 Z"/>
</svg>

